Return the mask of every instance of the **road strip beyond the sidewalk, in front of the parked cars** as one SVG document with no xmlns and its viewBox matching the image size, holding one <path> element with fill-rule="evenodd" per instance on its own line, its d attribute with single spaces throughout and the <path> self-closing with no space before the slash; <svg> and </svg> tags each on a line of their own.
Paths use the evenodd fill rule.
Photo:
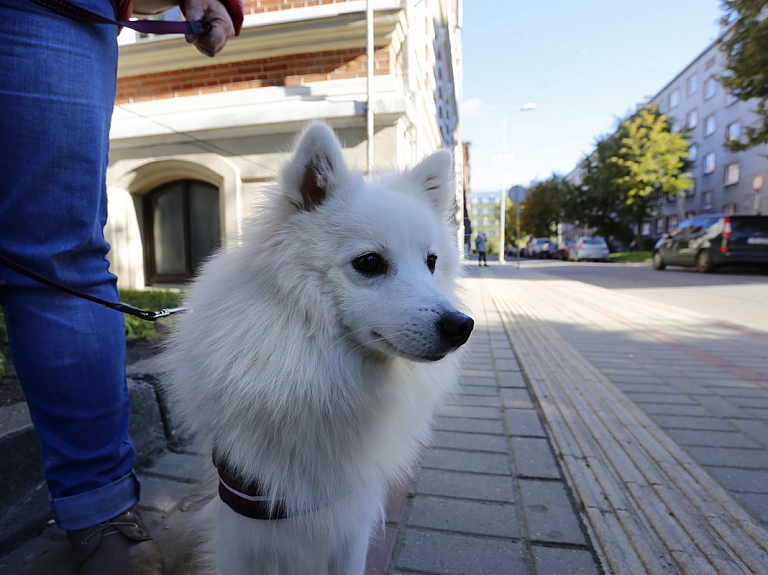
<svg viewBox="0 0 768 575">
<path fill-rule="evenodd" d="M 514 268 L 510 260 L 505 267 Z M 623 291 L 640 298 L 707 314 L 768 332 L 768 276 L 751 269 L 702 274 L 690 268 L 654 270 L 650 264 L 521 260 L 526 269 Z"/>
</svg>

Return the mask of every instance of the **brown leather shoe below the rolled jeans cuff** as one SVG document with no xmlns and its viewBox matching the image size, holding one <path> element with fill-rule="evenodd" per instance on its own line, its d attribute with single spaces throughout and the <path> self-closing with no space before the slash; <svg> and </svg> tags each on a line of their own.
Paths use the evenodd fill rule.
<svg viewBox="0 0 768 575">
<path fill-rule="evenodd" d="M 164 575 L 165 562 L 136 505 L 106 523 L 67 531 L 80 575 Z"/>
</svg>

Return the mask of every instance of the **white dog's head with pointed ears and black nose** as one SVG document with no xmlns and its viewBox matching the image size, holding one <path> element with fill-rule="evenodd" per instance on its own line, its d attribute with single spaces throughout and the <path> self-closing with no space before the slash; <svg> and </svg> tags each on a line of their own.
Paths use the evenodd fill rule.
<svg viewBox="0 0 768 575">
<path fill-rule="evenodd" d="M 280 189 L 282 233 L 293 237 L 280 242 L 290 253 L 279 273 L 288 282 L 301 276 L 283 289 L 308 316 L 325 313 L 320 321 L 338 326 L 357 350 L 415 361 L 439 360 L 467 341 L 474 322 L 456 309 L 449 152 L 366 181 L 347 167 L 331 129 L 311 124 Z M 312 302 L 323 311 L 309 309 Z"/>
</svg>

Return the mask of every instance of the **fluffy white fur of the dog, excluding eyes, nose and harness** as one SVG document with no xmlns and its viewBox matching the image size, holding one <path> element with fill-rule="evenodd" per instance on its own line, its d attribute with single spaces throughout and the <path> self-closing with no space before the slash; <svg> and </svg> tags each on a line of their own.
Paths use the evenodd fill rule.
<svg viewBox="0 0 768 575">
<path fill-rule="evenodd" d="M 214 572 L 363 573 L 387 488 L 457 380 L 460 354 L 434 327 L 460 306 L 453 194 L 447 151 L 367 181 L 311 124 L 241 244 L 204 266 L 163 357 L 170 395 L 189 431 L 296 515 L 248 519 L 213 499 Z M 355 268 L 374 252 L 386 273 Z"/>
</svg>

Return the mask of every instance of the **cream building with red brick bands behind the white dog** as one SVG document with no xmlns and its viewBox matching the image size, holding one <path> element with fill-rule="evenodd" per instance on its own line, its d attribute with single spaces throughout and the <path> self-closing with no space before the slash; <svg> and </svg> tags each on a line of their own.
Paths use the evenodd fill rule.
<svg viewBox="0 0 768 575">
<path fill-rule="evenodd" d="M 462 0 L 370 0 L 373 165 L 454 152 L 464 243 L 457 102 Z M 120 286 L 179 285 L 236 242 L 296 133 L 324 120 L 366 169 L 366 0 L 246 0 L 216 58 L 182 37 L 121 38 L 105 234 Z"/>
</svg>

